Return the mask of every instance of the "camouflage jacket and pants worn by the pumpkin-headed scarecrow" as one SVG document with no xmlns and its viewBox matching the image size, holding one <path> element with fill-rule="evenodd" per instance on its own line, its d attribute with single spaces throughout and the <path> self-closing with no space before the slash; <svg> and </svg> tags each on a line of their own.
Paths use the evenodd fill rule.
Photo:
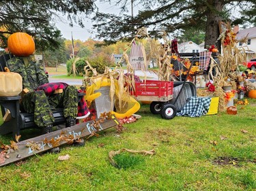
<svg viewBox="0 0 256 191">
<path fill-rule="evenodd" d="M 44 90 L 36 90 L 38 86 L 48 83 L 48 78 L 40 63 L 33 61 L 33 57 L 28 57 L 28 65 L 25 65 L 23 57 L 14 56 L 8 60 L 7 66 L 10 71 L 20 73 L 23 77 L 23 89 L 29 92 L 23 94 L 20 109 L 27 113 L 34 113 L 35 124 L 39 127 L 53 124 L 52 109 L 63 108 L 65 118 L 75 118 L 78 112 L 78 96 L 75 86 L 68 86 L 60 94 L 46 96 Z"/>
</svg>

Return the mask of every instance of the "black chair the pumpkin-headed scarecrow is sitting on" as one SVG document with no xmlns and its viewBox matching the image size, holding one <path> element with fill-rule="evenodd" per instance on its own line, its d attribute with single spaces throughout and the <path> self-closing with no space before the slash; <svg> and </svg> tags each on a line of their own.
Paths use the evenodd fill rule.
<svg viewBox="0 0 256 191">
<path fill-rule="evenodd" d="M 0 56 L 0 71 L 4 71 L 4 67 L 6 66 L 6 62 L 12 58 L 12 54 L 5 54 Z M 85 93 L 79 92 L 79 101 L 83 98 Z M 15 140 L 16 135 L 20 135 L 20 131 L 26 128 L 39 128 L 35 125 L 34 122 L 34 114 L 26 113 L 20 111 L 20 96 L 14 97 L 0 97 L 0 106 L 2 116 L 7 115 L 10 112 L 11 118 L 4 121 L 3 124 L 0 125 L 0 135 L 6 135 L 8 133 L 12 133 L 12 137 Z M 53 126 L 59 124 L 65 124 L 66 118 L 63 115 L 63 109 L 53 109 L 53 117 L 55 122 Z"/>
</svg>

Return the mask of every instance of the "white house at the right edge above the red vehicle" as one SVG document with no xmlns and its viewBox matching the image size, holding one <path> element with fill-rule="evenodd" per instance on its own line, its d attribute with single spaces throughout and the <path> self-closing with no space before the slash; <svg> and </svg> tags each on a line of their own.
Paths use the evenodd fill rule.
<svg viewBox="0 0 256 191">
<path fill-rule="evenodd" d="M 246 50 L 246 60 L 251 60 L 251 58 L 255 58 L 256 54 L 256 27 L 252 27 L 250 29 L 239 29 L 236 34 L 236 39 L 238 40 L 238 47 L 244 48 Z M 247 37 L 246 37 L 247 36 Z M 245 43 L 242 42 L 242 39 L 246 37 L 247 41 Z"/>
</svg>

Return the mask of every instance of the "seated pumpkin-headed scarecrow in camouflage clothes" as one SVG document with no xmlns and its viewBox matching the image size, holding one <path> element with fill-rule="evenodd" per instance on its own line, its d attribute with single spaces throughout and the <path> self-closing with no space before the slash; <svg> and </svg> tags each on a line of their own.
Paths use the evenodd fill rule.
<svg viewBox="0 0 256 191">
<path fill-rule="evenodd" d="M 8 48 L 14 58 L 8 60 L 10 71 L 23 77 L 23 90 L 20 109 L 34 113 L 34 122 L 43 128 L 44 133 L 50 133 L 53 127 L 52 109 L 63 108 L 66 127 L 74 125 L 78 112 L 78 92 L 75 86 L 65 83 L 49 83 L 44 69 L 33 60 L 35 43 L 27 33 L 14 33 L 8 38 Z M 60 93 L 54 94 L 55 90 Z"/>
</svg>

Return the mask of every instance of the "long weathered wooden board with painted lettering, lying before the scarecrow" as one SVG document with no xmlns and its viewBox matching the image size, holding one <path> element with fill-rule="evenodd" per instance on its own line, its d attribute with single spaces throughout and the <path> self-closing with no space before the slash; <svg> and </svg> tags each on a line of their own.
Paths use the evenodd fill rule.
<svg viewBox="0 0 256 191">
<path fill-rule="evenodd" d="M 94 121 L 83 122 L 81 124 L 76 124 L 75 126 L 63 128 L 58 131 L 53 131 L 52 133 L 47 133 L 38 137 L 33 137 L 31 139 L 20 141 L 17 143 L 18 150 L 10 152 L 10 154 L 8 154 L 10 158 L 5 157 L 5 162 L 0 164 L 0 167 L 10 164 L 12 162 L 18 162 L 19 160 L 23 160 L 25 158 L 28 158 L 29 156 L 40 154 L 42 152 L 46 152 L 47 150 L 53 149 L 53 147 L 65 145 L 68 143 L 68 141 L 60 139 L 60 137 L 71 137 L 74 139 L 87 137 L 91 135 L 91 133 L 98 133 L 100 131 L 104 131 L 107 128 L 116 126 L 117 124 L 119 124 L 119 122 L 115 119 L 115 117 L 112 117 L 111 120 L 104 120 L 104 122 L 99 124 L 98 131 L 96 130 L 96 128 L 94 128 L 93 124 Z M 53 146 L 51 143 L 45 143 L 46 140 L 50 141 L 52 139 L 61 141 L 59 141 L 59 144 L 55 146 Z M 33 149 L 34 145 L 36 145 L 37 149 Z"/>
</svg>

